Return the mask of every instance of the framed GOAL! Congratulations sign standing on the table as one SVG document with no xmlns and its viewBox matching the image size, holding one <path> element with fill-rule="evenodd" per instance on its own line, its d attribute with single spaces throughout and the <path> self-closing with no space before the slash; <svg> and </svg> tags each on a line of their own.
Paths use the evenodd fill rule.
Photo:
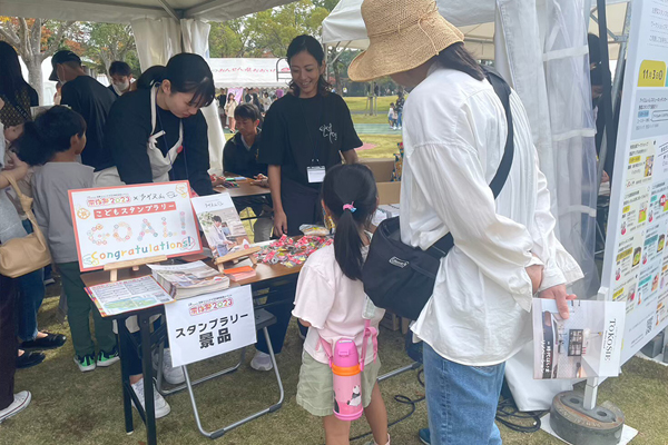
<svg viewBox="0 0 668 445">
<path fill-rule="evenodd" d="M 81 270 L 202 253 L 187 181 L 70 190 Z"/>
</svg>

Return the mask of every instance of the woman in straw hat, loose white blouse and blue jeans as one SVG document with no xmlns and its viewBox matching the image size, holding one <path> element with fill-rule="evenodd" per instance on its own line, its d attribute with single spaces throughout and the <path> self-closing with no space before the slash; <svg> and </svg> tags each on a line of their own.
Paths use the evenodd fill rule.
<svg viewBox="0 0 668 445">
<path fill-rule="evenodd" d="M 463 34 L 430 0 L 365 0 L 371 44 L 353 81 L 391 76 L 412 89 L 403 109 L 401 236 L 426 249 L 449 231 L 433 295 L 412 325 L 424 340 L 432 444 L 501 444 L 494 415 L 505 360 L 531 339 L 531 300 L 556 298 L 581 270 L 554 237 L 550 194 L 527 112 L 510 96 L 514 157 L 494 200 L 504 151 L 501 101 Z"/>
</svg>

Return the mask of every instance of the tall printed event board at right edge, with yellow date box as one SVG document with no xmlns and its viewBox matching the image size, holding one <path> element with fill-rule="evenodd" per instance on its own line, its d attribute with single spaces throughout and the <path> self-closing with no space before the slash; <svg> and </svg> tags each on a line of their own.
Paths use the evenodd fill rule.
<svg viewBox="0 0 668 445">
<path fill-rule="evenodd" d="M 601 291 L 626 303 L 622 363 L 668 326 L 668 0 L 633 0 Z"/>
</svg>

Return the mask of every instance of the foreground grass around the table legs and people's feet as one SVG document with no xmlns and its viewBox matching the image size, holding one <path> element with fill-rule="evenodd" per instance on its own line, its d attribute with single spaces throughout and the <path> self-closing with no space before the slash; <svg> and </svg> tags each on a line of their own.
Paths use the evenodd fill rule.
<svg viewBox="0 0 668 445">
<path fill-rule="evenodd" d="M 50 332 L 66 333 L 67 325 L 57 322 L 58 285 L 50 286 L 49 296 L 40 312 L 40 327 Z M 195 395 L 204 427 L 215 429 L 235 422 L 254 411 L 278 399 L 273 374 L 257 373 L 249 368 L 253 348 L 239 372 L 196 387 Z M 32 392 L 32 403 L 23 413 L 0 425 L 1 445 L 141 445 L 146 431 L 137 413 L 134 413 L 135 433 L 126 435 L 122 421 L 119 364 L 110 368 L 81 374 L 72 363 L 71 342 L 65 347 L 47 352 L 47 359 L 39 366 L 17 373 L 16 390 Z M 278 366 L 285 387 L 285 403 L 276 413 L 246 424 L 219 438 L 222 445 L 292 445 L 324 443 L 321 422 L 308 415 L 295 402 L 302 342 L 293 323 L 287 334 Z M 234 357 L 217 357 L 189 367 L 191 378 L 222 369 Z M 410 363 L 403 352 L 403 337 L 397 332 L 381 328 L 381 373 Z M 600 386 L 599 402 L 611 400 L 626 415 L 627 423 L 640 431 L 633 439 L 637 445 L 665 445 L 668 432 L 668 367 L 632 358 L 618 378 L 609 378 Z M 418 373 L 411 372 L 381 383 L 383 398 L 391 421 L 410 412 L 410 406 L 394 400 L 395 395 L 419 398 L 424 388 L 418 382 Z M 167 397 L 171 414 L 158 421 L 158 442 L 165 445 L 213 444 L 196 428 L 190 402 L 185 393 Z M 392 443 L 419 445 L 418 431 L 428 424 L 425 403 L 416 404 L 415 413 L 392 426 Z M 353 424 L 353 434 L 369 431 L 365 421 Z M 546 433 L 521 434 L 501 427 L 507 445 L 558 445 L 560 441 Z M 353 442 L 361 445 L 363 441 Z"/>
</svg>

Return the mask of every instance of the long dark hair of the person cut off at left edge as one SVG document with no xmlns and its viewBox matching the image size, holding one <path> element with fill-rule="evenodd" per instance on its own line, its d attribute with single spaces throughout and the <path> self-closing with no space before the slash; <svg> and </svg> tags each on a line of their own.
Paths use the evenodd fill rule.
<svg viewBox="0 0 668 445">
<path fill-rule="evenodd" d="M 39 106 L 39 96 L 21 73 L 19 55 L 11 44 L 0 41 L 0 121 L 7 127 L 32 120 L 30 107 Z"/>
</svg>

